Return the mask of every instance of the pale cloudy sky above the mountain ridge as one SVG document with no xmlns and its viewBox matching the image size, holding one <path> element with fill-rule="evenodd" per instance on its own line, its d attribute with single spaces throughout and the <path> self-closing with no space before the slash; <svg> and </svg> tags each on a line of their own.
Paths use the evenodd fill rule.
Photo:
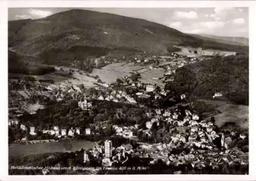
<svg viewBox="0 0 256 181">
<path fill-rule="evenodd" d="M 9 8 L 8 19 L 37 19 L 74 8 Z M 249 36 L 248 8 L 79 8 L 146 19 L 184 33 Z"/>
</svg>

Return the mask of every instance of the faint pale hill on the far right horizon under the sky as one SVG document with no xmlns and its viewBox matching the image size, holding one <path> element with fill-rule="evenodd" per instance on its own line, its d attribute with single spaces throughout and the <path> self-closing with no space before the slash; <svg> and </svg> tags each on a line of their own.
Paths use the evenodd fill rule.
<svg viewBox="0 0 256 181">
<path fill-rule="evenodd" d="M 202 37 L 210 38 L 219 43 L 232 44 L 235 46 L 249 46 L 249 39 L 245 37 L 215 36 L 215 35 L 208 35 L 208 34 L 198 34 L 198 35 L 191 34 L 191 35 L 199 38 L 202 38 Z"/>
</svg>

